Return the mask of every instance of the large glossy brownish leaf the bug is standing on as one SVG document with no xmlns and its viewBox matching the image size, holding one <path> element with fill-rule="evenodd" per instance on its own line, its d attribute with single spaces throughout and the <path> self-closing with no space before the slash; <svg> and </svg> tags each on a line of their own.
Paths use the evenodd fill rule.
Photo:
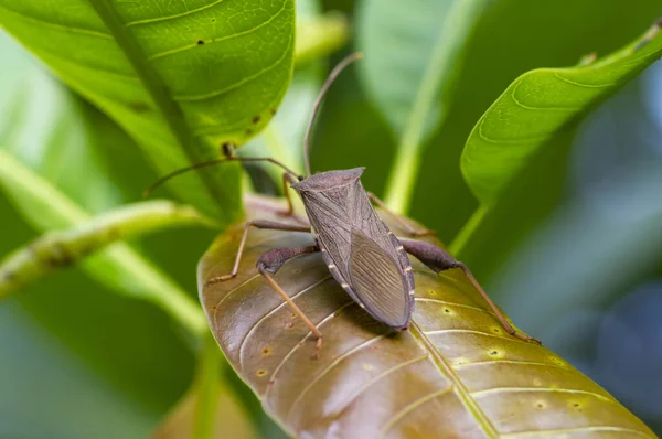
<svg viewBox="0 0 662 439">
<path fill-rule="evenodd" d="M 201 260 L 201 300 L 233 367 L 292 435 L 654 437 L 553 352 L 505 334 L 459 270 L 437 276 L 414 264 L 414 321 L 394 335 L 343 292 L 320 255 L 288 263 L 275 279 L 324 334 L 317 351 L 255 268 L 266 249 L 309 245 L 309 235 L 252 232 L 238 276 L 206 286 L 232 269 L 241 229 L 221 236 Z"/>
</svg>

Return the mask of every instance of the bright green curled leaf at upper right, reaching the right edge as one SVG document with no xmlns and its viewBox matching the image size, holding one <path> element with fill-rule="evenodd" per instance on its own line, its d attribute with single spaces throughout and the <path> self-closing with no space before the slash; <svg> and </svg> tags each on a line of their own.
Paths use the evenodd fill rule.
<svg viewBox="0 0 662 439">
<path fill-rule="evenodd" d="M 659 25 L 589 65 L 540 68 L 515 79 L 478 121 L 462 172 L 484 205 L 494 204 L 553 137 L 576 124 L 662 54 Z"/>
</svg>

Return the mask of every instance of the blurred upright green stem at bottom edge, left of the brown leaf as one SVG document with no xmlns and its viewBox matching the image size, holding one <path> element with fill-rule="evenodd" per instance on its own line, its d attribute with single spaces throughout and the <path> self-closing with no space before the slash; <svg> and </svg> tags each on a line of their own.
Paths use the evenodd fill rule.
<svg viewBox="0 0 662 439">
<path fill-rule="evenodd" d="M 216 341 L 209 334 L 204 338 L 204 346 L 200 354 L 197 375 L 195 378 L 195 411 L 193 418 L 193 438 L 213 439 L 216 427 L 216 410 L 221 392 L 220 370 L 221 351 Z"/>
</svg>

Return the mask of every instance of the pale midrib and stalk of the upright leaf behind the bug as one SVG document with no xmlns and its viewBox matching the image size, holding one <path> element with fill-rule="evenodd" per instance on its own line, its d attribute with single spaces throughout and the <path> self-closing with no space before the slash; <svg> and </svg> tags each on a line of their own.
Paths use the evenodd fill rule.
<svg viewBox="0 0 662 439">
<path fill-rule="evenodd" d="M 427 116 L 435 101 L 440 98 L 441 113 L 437 125 L 441 125 L 446 118 L 452 98 L 450 92 L 461 68 L 467 41 L 488 1 L 455 1 L 441 25 L 435 51 L 418 87 L 386 185 L 386 204 L 401 214 L 406 214 L 409 208 L 418 176 Z"/>
</svg>

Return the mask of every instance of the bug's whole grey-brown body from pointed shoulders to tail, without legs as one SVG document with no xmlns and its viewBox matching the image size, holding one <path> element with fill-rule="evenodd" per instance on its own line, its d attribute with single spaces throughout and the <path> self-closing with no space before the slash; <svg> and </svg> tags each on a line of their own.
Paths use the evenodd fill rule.
<svg viewBox="0 0 662 439">
<path fill-rule="evenodd" d="M 360 180 L 364 170 L 323 172 L 292 188 L 335 280 L 375 319 L 407 328 L 414 308 L 409 259 L 373 208 Z"/>
</svg>

